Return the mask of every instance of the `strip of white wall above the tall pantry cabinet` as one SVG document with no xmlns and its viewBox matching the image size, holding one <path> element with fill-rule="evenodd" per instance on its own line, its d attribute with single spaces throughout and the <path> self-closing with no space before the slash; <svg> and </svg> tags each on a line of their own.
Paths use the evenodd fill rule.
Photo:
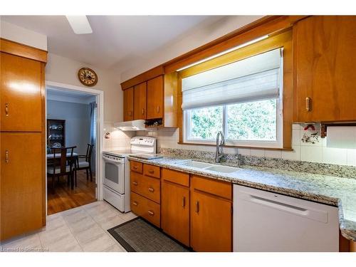
<svg viewBox="0 0 356 267">
<path fill-rule="evenodd" d="M 1 21 L 1 17 L 0 37 L 47 51 L 47 36 L 26 28 L 21 28 L 6 21 Z"/>
</svg>

